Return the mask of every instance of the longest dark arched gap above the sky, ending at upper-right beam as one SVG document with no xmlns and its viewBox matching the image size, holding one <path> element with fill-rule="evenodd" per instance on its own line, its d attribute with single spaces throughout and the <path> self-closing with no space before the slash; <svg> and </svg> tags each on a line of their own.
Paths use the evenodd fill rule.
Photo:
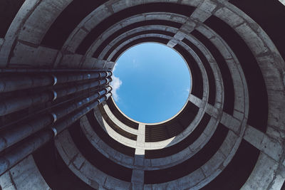
<svg viewBox="0 0 285 190">
<path fill-rule="evenodd" d="M 123 19 L 129 18 L 130 16 L 150 12 L 168 12 L 190 16 L 194 10 L 195 8 L 193 6 L 171 3 L 151 3 L 132 6 L 128 9 L 124 9 L 123 11 L 119 11 L 118 13 L 113 14 L 112 16 L 109 16 L 107 19 L 103 20 L 101 23 L 95 26 L 95 28 L 93 28 L 92 31 L 88 33 L 88 36 L 86 36 L 86 38 L 84 38 L 84 40 L 78 46 L 76 53 L 86 53 L 88 48 L 98 38 L 98 36 L 100 36 L 100 34 L 106 31 L 106 29 L 108 29 L 110 26 L 113 26 L 115 23 L 118 23 Z"/>
</svg>

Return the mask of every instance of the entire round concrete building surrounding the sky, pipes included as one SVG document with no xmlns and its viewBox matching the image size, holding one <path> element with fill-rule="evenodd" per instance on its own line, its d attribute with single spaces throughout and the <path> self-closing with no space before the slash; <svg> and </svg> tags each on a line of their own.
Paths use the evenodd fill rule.
<svg viewBox="0 0 285 190">
<path fill-rule="evenodd" d="M 0 0 L 0 189 L 285 189 L 283 4 Z M 192 74 L 182 112 L 154 125 L 108 99 L 142 42 Z"/>
</svg>

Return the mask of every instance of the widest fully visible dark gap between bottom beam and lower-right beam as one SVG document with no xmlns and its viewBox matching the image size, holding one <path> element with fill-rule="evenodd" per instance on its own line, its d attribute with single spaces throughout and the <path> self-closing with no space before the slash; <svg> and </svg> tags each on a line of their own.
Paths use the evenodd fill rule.
<svg viewBox="0 0 285 190">
<path fill-rule="evenodd" d="M 218 151 L 228 132 L 227 127 L 219 124 L 209 142 L 190 159 L 167 169 L 145 171 L 145 184 L 160 184 L 179 179 L 202 167 Z"/>
</svg>

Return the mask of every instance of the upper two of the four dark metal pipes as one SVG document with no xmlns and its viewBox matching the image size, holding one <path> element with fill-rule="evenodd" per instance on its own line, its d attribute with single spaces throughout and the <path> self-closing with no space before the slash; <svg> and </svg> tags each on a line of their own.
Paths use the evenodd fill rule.
<svg viewBox="0 0 285 190">
<path fill-rule="evenodd" d="M 23 110 L 39 103 L 56 100 L 82 90 L 94 88 L 96 86 L 110 83 L 112 73 L 110 71 L 99 71 L 94 73 L 67 73 L 67 74 L 44 74 L 41 76 L 24 75 L 21 77 L 6 77 L 0 80 L 0 93 L 7 93 L 14 90 L 24 90 L 28 88 L 38 88 L 43 86 L 54 86 L 56 84 L 79 82 L 83 80 L 99 79 L 92 82 L 86 82 L 72 87 L 62 88 L 58 91 L 51 90 L 44 93 L 29 95 L 24 97 L 11 97 L 8 100 L 0 100 L 0 116 L 11 112 Z"/>
</svg>

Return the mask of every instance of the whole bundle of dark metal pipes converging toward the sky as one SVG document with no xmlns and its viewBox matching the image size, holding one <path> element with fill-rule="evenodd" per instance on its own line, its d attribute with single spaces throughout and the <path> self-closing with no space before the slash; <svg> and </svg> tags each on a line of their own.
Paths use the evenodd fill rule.
<svg viewBox="0 0 285 190">
<path fill-rule="evenodd" d="M 78 74 L 79 73 L 79 74 Z M 53 90 L 53 97 L 50 93 L 41 93 L 19 99 L 9 99 L 0 102 L 0 115 L 6 115 L 17 110 L 30 107 L 39 102 L 48 102 L 55 100 L 56 97 L 63 97 L 82 90 L 98 87 L 100 90 L 91 90 L 88 97 L 82 97 L 76 102 L 65 106 L 53 107 L 51 112 L 45 112 L 41 117 L 33 118 L 21 122 L 24 124 L 15 125 L 4 129 L 0 132 L 0 175 L 7 169 L 24 159 L 28 154 L 34 152 L 38 147 L 48 142 L 69 127 L 73 122 L 80 119 L 87 112 L 99 105 L 101 102 L 108 100 L 112 88 L 108 86 L 112 73 L 107 71 L 95 71 L 92 73 L 65 73 L 65 74 L 48 74 L 41 77 L 9 78 L 0 81 L 0 93 L 11 92 L 13 90 L 36 88 L 42 86 L 56 85 L 58 83 L 80 82 L 82 80 L 98 79 L 86 82 L 72 87 Z M 13 147 L 11 147 L 14 145 Z"/>
</svg>

